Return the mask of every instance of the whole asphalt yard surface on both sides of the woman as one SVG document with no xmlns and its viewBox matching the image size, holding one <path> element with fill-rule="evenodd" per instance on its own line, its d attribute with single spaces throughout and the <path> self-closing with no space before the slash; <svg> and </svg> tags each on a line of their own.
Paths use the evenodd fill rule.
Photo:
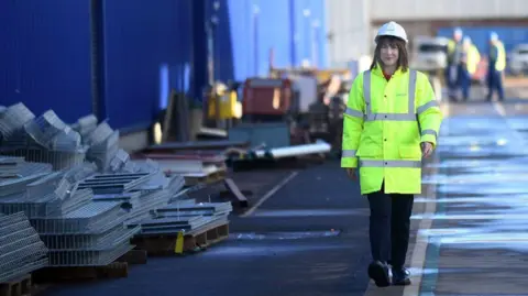
<svg viewBox="0 0 528 296">
<path fill-rule="evenodd" d="M 43 295 L 526 295 L 528 106 L 475 100 L 443 110 L 441 143 L 416 197 L 411 286 L 369 283 L 367 202 L 329 161 L 254 174 L 268 180 L 252 185 L 265 188 L 260 199 L 232 215 L 229 239 L 205 252 L 148 257 L 128 278 Z"/>
</svg>

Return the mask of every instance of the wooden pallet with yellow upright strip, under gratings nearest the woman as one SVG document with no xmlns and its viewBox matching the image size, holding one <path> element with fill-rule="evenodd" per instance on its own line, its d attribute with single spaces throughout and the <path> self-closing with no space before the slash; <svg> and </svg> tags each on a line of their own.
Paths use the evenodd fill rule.
<svg viewBox="0 0 528 296">
<path fill-rule="evenodd" d="M 139 235 L 132 239 L 136 249 L 152 256 L 187 254 L 206 250 L 229 237 L 229 222 L 222 222 L 197 229 L 187 233 L 169 235 Z M 179 239 L 179 242 L 178 242 Z"/>
</svg>

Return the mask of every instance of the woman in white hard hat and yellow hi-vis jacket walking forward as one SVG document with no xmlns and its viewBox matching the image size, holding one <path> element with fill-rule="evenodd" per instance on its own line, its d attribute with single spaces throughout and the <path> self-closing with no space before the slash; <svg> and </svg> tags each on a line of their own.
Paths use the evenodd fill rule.
<svg viewBox="0 0 528 296">
<path fill-rule="evenodd" d="M 407 34 L 395 22 L 375 37 L 370 70 L 350 91 L 343 120 L 341 166 L 356 179 L 371 208 L 373 262 L 377 286 L 409 285 L 405 259 L 414 195 L 421 193 L 421 160 L 432 154 L 442 114 L 428 77 L 408 68 Z"/>
</svg>

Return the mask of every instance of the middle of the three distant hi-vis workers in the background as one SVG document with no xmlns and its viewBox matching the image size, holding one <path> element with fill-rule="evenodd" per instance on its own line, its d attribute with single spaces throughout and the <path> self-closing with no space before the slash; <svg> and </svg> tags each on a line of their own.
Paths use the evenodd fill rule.
<svg viewBox="0 0 528 296">
<path fill-rule="evenodd" d="M 462 98 L 468 101 L 470 97 L 471 83 L 476 73 L 481 54 L 469 36 L 464 37 L 462 46 L 462 59 L 460 69 L 460 86 L 462 87 Z"/>
</svg>

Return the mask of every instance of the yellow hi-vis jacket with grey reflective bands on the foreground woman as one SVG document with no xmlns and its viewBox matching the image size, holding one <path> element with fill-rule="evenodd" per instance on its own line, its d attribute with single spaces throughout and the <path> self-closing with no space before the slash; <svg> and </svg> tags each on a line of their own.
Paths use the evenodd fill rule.
<svg viewBox="0 0 528 296">
<path fill-rule="evenodd" d="M 437 145 L 442 113 L 428 77 L 416 70 L 386 80 L 380 66 L 360 74 L 343 120 L 341 167 L 360 167 L 361 194 L 421 193 L 420 142 Z"/>
</svg>

